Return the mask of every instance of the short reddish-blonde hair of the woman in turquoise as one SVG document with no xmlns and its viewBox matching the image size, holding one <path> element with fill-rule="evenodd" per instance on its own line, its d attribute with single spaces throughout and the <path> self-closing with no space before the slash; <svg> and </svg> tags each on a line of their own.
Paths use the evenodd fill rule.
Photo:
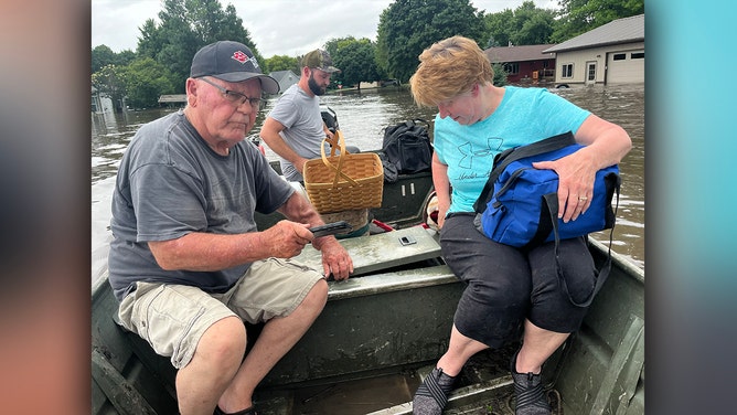
<svg viewBox="0 0 737 415">
<path fill-rule="evenodd" d="M 471 39 L 452 36 L 434 43 L 419 55 L 417 71 L 409 78 L 415 103 L 434 107 L 473 88 L 493 83 L 489 58 Z"/>
</svg>

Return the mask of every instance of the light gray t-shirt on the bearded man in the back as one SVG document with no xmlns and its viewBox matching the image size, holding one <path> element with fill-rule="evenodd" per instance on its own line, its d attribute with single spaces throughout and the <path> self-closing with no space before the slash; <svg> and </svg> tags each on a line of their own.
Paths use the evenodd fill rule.
<svg viewBox="0 0 737 415">
<path fill-rule="evenodd" d="M 320 157 L 320 146 L 325 138 L 325 131 L 318 96 L 309 96 L 298 84 L 295 84 L 279 97 L 268 116 L 285 126 L 280 132 L 281 138 L 296 153 L 306 159 Z M 281 173 L 287 180 L 305 180 L 289 161 L 279 158 L 279 163 Z"/>
</svg>

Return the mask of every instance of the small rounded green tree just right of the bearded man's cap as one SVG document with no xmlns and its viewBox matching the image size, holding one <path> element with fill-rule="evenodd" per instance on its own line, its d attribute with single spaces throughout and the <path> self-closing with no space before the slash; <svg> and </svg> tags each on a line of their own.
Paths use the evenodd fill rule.
<svg viewBox="0 0 737 415">
<path fill-rule="evenodd" d="M 325 50 L 333 58 L 333 64 L 341 70 L 334 76 L 345 86 L 380 79 L 375 60 L 376 45 L 368 39 L 356 40 L 353 36 L 333 39 L 325 44 Z"/>
</svg>

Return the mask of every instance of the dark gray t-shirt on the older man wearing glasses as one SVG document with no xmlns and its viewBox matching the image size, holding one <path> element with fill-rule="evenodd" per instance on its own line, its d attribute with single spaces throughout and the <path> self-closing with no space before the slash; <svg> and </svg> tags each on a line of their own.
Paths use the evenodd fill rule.
<svg viewBox="0 0 737 415">
<path fill-rule="evenodd" d="M 293 188 L 249 141 L 215 153 L 180 110 L 142 126 L 120 162 L 113 195 L 109 281 L 121 300 L 136 281 L 224 292 L 250 264 L 218 272 L 164 270 L 148 247 L 191 232 L 255 232 L 254 212 L 271 213 Z"/>
</svg>

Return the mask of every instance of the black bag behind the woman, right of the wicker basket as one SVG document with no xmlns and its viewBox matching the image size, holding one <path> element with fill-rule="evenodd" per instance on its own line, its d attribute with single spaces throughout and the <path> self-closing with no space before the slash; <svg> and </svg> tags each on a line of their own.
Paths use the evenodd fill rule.
<svg viewBox="0 0 737 415">
<path fill-rule="evenodd" d="M 430 170 L 432 145 L 429 127 L 426 120 L 414 119 L 384 128 L 382 152 L 399 174 Z"/>
</svg>

